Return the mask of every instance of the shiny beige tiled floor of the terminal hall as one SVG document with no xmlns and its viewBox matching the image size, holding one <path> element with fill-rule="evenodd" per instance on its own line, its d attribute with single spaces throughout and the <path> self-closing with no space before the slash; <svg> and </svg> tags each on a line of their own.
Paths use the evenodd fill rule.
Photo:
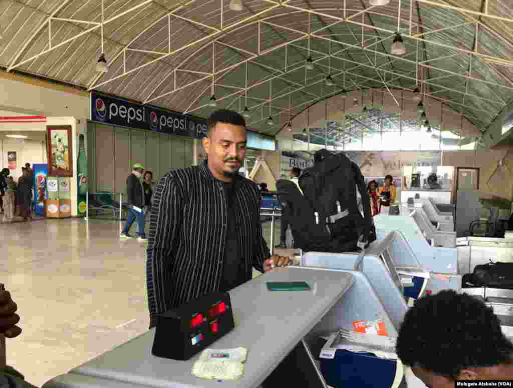
<svg viewBox="0 0 513 388">
<path fill-rule="evenodd" d="M 0 283 L 23 328 L 7 340 L 7 361 L 29 382 L 41 386 L 148 330 L 146 244 L 119 232 L 99 220 L 0 225 Z M 264 235 L 269 243 L 269 223 Z"/>
</svg>

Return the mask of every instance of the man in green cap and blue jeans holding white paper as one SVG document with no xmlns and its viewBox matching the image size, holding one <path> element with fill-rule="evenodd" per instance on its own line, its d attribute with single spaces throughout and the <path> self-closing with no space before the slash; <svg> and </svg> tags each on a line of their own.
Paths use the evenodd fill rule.
<svg viewBox="0 0 513 388">
<path fill-rule="evenodd" d="M 141 163 L 135 163 L 132 168 L 132 174 L 127 178 L 127 194 L 128 194 L 128 219 L 123 232 L 122 239 L 131 239 L 130 227 L 137 220 L 137 240 L 146 241 L 144 232 L 145 214 L 144 214 L 144 188 L 141 178 L 144 173 L 144 166 Z"/>
</svg>

